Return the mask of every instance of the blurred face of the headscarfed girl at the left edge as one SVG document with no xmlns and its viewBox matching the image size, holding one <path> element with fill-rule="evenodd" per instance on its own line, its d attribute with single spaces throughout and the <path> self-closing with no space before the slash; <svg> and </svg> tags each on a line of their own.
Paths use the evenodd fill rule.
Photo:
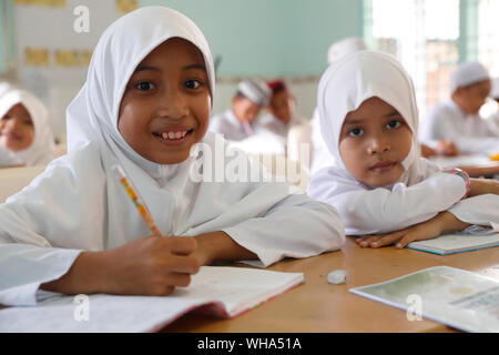
<svg viewBox="0 0 499 355">
<path fill-rule="evenodd" d="M 28 149 L 34 140 L 31 115 L 23 104 L 18 103 L 0 120 L 0 144 L 11 151 Z"/>
</svg>

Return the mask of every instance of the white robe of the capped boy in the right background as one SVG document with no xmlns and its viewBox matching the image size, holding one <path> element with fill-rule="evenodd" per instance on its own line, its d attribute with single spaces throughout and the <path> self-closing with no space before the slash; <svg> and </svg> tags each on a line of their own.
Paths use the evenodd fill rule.
<svg viewBox="0 0 499 355">
<path fill-rule="evenodd" d="M 434 148 L 438 140 L 452 140 L 462 153 L 493 153 L 499 135 L 490 122 L 466 113 L 451 99 L 432 108 L 420 130 L 421 142 Z"/>
</svg>

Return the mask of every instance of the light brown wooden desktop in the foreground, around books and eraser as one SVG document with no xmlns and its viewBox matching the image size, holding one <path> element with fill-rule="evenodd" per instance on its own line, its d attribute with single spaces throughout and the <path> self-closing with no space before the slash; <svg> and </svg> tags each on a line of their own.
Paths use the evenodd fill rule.
<svg viewBox="0 0 499 355">
<path fill-rule="evenodd" d="M 405 311 L 348 292 L 437 265 L 499 278 L 499 247 L 439 256 L 395 247 L 360 248 L 348 237 L 342 252 L 271 266 L 305 273 L 304 284 L 232 320 L 187 314 L 163 332 L 456 332 L 431 321 L 409 322 Z M 346 284 L 327 283 L 327 274 L 335 268 L 348 272 Z"/>
</svg>

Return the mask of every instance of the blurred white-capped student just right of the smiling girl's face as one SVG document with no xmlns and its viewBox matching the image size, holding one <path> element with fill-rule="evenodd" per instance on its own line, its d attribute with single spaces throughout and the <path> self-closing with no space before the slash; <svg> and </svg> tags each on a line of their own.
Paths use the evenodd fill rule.
<svg viewBox="0 0 499 355">
<path fill-rule="evenodd" d="M 237 85 L 232 109 L 212 118 L 208 131 L 221 133 L 226 140 L 241 141 L 254 134 L 254 123 L 271 101 L 271 90 L 259 79 L 247 79 Z"/>
</svg>

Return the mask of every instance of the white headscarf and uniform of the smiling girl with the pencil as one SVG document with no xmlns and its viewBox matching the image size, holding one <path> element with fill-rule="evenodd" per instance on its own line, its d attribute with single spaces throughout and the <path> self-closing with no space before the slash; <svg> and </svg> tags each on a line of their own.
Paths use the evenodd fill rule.
<svg viewBox="0 0 499 355">
<path fill-rule="evenodd" d="M 216 166 L 215 154 L 161 165 L 124 141 L 118 130 L 123 89 L 146 51 L 173 37 L 203 53 L 214 94 L 207 42 L 183 14 L 144 7 L 111 24 L 95 48 L 85 84 L 68 108 L 68 155 L 0 205 L 0 304 L 34 304 L 39 285 L 65 274 L 82 251 L 114 248 L 151 234 L 111 169 L 114 164 L 126 172 L 164 235 L 224 231 L 265 266 L 343 245 L 337 212 L 289 194 L 285 184 L 196 182 L 193 171 Z M 206 134 L 201 145 L 226 145 L 215 138 Z M 251 172 L 261 168 L 241 156 L 252 164 Z"/>
</svg>

